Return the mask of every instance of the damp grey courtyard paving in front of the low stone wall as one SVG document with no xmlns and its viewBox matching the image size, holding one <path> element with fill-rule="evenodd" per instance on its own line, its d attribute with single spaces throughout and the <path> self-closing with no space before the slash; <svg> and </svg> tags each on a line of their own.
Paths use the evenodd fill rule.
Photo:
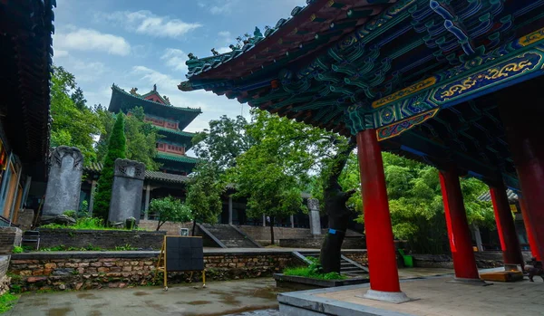
<svg viewBox="0 0 544 316">
<path fill-rule="evenodd" d="M 194 289 L 192 285 L 173 285 L 168 292 L 161 287 L 135 287 L 23 294 L 5 315 L 279 315 L 275 311 L 278 290 L 271 278 L 210 282 L 206 289 Z"/>
</svg>

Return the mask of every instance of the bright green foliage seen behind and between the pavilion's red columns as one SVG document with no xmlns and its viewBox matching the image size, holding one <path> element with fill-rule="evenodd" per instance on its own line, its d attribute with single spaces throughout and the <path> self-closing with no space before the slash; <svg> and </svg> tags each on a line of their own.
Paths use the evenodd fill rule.
<svg viewBox="0 0 544 316">
<path fill-rule="evenodd" d="M 382 157 L 393 235 L 406 240 L 413 252 L 443 254 L 448 243 L 438 170 L 387 152 Z M 355 155 L 350 160 L 355 161 Z M 352 185 L 358 182 L 357 169 L 345 171 L 345 179 L 356 179 L 349 181 Z M 461 178 L 469 224 L 494 225 L 491 203 L 478 200 L 487 189 L 478 179 Z M 364 221 L 364 215 L 360 220 Z"/>
</svg>

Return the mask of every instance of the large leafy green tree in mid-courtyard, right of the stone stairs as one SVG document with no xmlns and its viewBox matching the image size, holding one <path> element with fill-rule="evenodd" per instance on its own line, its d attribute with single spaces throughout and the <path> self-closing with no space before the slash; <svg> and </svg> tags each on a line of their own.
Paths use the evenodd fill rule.
<svg viewBox="0 0 544 316">
<path fill-rule="evenodd" d="M 236 196 L 248 198 L 250 217 L 269 216 L 274 243 L 275 220 L 306 211 L 301 193 L 310 183 L 310 174 L 334 155 L 338 137 L 263 110 L 252 110 L 246 135 L 251 147 L 231 164 L 228 180 L 236 184 Z"/>
</svg>

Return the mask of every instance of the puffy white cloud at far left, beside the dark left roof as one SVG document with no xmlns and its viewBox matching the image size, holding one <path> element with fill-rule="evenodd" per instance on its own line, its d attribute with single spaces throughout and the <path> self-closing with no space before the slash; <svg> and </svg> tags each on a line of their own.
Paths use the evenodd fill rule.
<svg viewBox="0 0 544 316">
<path fill-rule="evenodd" d="M 126 56 L 131 45 L 121 36 L 102 34 L 92 29 L 77 29 L 67 34 L 55 34 L 53 47 L 68 53 L 74 51 L 96 51 Z"/>
</svg>

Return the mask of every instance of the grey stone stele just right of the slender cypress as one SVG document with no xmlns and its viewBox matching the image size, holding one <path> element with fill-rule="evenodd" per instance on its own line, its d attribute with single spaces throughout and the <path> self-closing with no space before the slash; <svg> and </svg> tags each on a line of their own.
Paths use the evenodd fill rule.
<svg viewBox="0 0 544 316">
<path fill-rule="evenodd" d="M 134 217 L 139 223 L 145 165 L 129 159 L 117 159 L 113 176 L 108 221 L 123 225 L 127 218 Z"/>
</svg>

